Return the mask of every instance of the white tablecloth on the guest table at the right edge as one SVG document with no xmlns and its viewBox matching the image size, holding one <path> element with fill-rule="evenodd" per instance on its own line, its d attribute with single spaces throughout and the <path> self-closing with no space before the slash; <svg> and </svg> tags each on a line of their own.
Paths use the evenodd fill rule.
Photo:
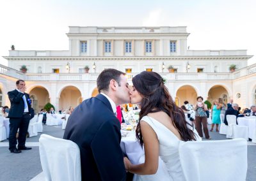
<svg viewBox="0 0 256 181">
<path fill-rule="evenodd" d="M 253 143 L 256 143 L 256 117 L 250 116 L 250 117 L 237 117 L 237 124 L 241 126 L 248 126 L 249 138 L 252 139 Z"/>
</svg>

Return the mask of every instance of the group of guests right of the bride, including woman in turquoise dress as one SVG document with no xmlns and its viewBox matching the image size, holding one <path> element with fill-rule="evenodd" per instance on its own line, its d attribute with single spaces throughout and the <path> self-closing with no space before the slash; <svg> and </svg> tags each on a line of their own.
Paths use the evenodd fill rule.
<svg viewBox="0 0 256 181">
<path fill-rule="evenodd" d="M 207 127 L 207 118 L 209 118 L 209 111 L 211 111 L 211 120 L 212 125 L 210 131 L 214 130 L 216 126 L 216 131 L 219 131 L 219 124 L 221 124 L 220 115 L 225 115 L 224 123 L 228 125 L 227 115 L 236 115 L 236 117 L 244 116 L 256 116 L 256 106 L 253 105 L 249 108 L 244 108 L 241 111 L 241 108 L 236 103 L 233 103 L 233 99 L 230 99 L 230 102 L 225 104 L 222 98 L 214 99 L 212 102 L 211 108 L 208 108 L 207 105 L 203 102 L 202 96 L 196 98 L 196 104 L 193 106 L 189 104 L 188 101 L 184 101 L 184 105 L 181 106 L 184 113 L 187 113 L 188 119 L 192 122 L 195 120 L 195 128 L 199 136 L 203 137 L 203 131 L 206 139 L 211 139 L 209 136 L 209 130 Z"/>
</svg>

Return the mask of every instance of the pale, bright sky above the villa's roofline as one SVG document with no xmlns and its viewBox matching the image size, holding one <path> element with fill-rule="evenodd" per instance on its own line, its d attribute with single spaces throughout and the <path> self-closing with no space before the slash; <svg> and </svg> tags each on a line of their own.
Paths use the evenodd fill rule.
<svg viewBox="0 0 256 181">
<path fill-rule="evenodd" d="M 0 64 L 11 45 L 68 50 L 68 26 L 186 26 L 189 50 L 256 55 L 255 7 L 255 0 L 1 0 Z"/>
</svg>

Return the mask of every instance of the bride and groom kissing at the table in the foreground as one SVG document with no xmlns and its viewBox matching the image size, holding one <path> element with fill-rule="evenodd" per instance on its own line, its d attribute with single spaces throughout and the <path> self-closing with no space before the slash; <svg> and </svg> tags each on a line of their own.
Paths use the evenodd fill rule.
<svg viewBox="0 0 256 181">
<path fill-rule="evenodd" d="M 70 115 L 63 138 L 80 148 L 82 180 L 126 180 L 127 171 L 136 174 L 135 180 L 148 180 L 145 175 L 157 172 L 159 159 L 164 171 L 158 180 L 185 180 L 179 144 L 196 140 L 196 136 L 184 112 L 175 105 L 158 73 L 143 71 L 132 78 L 132 84 L 130 90 L 122 71 L 104 69 L 97 78 L 100 94 L 84 100 Z M 145 163 L 141 164 L 132 164 L 120 148 L 116 106 L 130 102 L 141 109 L 136 128 L 136 138 L 145 150 Z"/>
</svg>

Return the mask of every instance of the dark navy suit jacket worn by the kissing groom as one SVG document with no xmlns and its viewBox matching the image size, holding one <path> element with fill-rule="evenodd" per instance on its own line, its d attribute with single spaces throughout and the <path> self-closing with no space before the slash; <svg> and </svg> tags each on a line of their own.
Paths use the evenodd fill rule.
<svg viewBox="0 0 256 181">
<path fill-rule="evenodd" d="M 82 180 L 125 180 L 120 122 L 105 96 L 98 94 L 77 106 L 63 138 L 80 148 Z"/>
</svg>

